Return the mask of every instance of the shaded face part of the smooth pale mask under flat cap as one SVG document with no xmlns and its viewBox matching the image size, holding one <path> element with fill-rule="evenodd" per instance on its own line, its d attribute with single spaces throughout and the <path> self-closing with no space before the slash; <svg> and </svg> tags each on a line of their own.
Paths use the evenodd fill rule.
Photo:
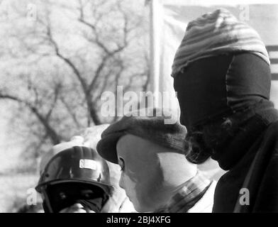
<svg viewBox="0 0 278 227">
<path fill-rule="evenodd" d="M 135 135 L 124 135 L 117 143 L 122 167 L 120 186 L 137 211 L 153 211 L 160 202 L 163 175 L 157 150 L 161 147 Z"/>
</svg>

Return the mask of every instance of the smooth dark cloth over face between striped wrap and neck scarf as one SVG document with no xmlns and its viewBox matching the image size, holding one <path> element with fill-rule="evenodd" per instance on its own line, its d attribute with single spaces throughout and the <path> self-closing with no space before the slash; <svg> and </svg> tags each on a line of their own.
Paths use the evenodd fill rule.
<svg viewBox="0 0 278 227">
<path fill-rule="evenodd" d="M 191 62 L 174 77 L 181 123 L 190 128 L 244 111 L 269 100 L 271 73 L 267 62 L 243 52 Z"/>
</svg>

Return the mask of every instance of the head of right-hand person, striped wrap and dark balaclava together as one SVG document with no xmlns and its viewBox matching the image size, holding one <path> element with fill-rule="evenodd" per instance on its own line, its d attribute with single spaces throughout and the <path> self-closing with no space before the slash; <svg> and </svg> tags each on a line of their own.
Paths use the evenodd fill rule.
<svg viewBox="0 0 278 227">
<path fill-rule="evenodd" d="M 269 103 L 271 73 L 265 45 L 254 29 L 223 9 L 188 24 L 172 76 L 180 121 L 194 140 L 189 150 L 199 150 L 191 158 L 196 163 L 223 148 L 252 116 L 250 109 Z M 233 116 L 236 121 L 230 122 Z M 233 126 L 222 131 L 223 123 Z"/>
</svg>

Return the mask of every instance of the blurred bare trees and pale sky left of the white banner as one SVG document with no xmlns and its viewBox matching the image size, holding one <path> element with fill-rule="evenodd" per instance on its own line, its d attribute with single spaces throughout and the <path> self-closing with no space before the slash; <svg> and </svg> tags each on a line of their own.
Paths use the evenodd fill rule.
<svg viewBox="0 0 278 227">
<path fill-rule="evenodd" d="M 52 145 L 116 121 L 99 114 L 104 91 L 146 90 L 148 13 L 143 0 L 0 2 L 0 212 L 26 204 Z"/>
</svg>

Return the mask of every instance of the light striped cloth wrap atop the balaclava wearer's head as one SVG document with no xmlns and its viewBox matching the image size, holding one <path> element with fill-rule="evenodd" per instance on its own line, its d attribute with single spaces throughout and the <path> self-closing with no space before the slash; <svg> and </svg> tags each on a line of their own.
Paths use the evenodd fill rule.
<svg viewBox="0 0 278 227">
<path fill-rule="evenodd" d="M 252 52 L 270 65 L 265 45 L 253 28 L 238 21 L 226 9 L 206 13 L 188 23 L 174 56 L 172 76 L 189 62 L 232 52 Z"/>
</svg>

